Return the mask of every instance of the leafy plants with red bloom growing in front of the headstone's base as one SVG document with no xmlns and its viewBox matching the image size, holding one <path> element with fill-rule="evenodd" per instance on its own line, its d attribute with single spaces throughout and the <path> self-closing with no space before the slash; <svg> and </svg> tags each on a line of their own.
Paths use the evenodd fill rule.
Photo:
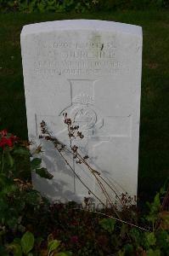
<svg viewBox="0 0 169 256">
<path fill-rule="evenodd" d="M 52 178 L 41 167 L 41 158 L 31 160 L 25 172 L 23 161 L 42 149 L 30 153 L 29 145 L 0 131 L 0 255 L 168 255 L 167 183 L 146 211 L 124 207 L 121 221 L 112 208 L 51 204 L 31 184 L 31 172 Z"/>
</svg>

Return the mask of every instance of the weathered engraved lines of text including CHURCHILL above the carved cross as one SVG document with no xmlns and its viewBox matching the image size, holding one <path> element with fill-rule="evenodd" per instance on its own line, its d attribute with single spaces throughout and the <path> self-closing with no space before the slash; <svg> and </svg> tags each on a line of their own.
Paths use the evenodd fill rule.
<svg viewBox="0 0 169 256">
<path fill-rule="evenodd" d="M 98 40 L 98 42 L 97 42 Z M 41 52 L 38 53 L 38 51 Z M 99 75 L 128 71 L 119 60 L 115 40 L 110 42 L 39 42 L 33 72 L 39 75 Z"/>
</svg>

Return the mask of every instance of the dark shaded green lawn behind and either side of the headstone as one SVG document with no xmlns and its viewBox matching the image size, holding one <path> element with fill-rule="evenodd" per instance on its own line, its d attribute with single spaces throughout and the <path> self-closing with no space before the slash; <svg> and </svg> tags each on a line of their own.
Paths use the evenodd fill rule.
<svg viewBox="0 0 169 256">
<path fill-rule="evenodd" d="M 138 195 L 155 195 L 169 176 L 169 12 L 0 15 L 0 130 L 27 137 L 20 32 L 29 23 L 65 19 L 114 20 L 143 26 Z"/>
</svg>

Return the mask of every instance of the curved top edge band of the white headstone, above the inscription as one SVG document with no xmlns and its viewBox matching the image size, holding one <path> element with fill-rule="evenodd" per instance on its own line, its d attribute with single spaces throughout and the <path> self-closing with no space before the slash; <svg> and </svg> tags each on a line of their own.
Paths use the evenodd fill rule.
<svg viewBox="0 0 169 256">
<path fill-rule="evenodd" d="M 37 34 L 40 32 L 69 30 L 94 30 L 109 32 L 124 32 L 142 37 L 142 27 L 126 23 L 107 21 L 107 20 L 55 20 L 41 23 L 25 25 L 21 36 Z"/>
</svg>

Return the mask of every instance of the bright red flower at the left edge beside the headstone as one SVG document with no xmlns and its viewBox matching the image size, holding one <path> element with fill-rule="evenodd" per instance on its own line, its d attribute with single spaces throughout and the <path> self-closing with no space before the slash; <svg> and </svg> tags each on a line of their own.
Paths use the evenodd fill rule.
<svg viewBox="0 0 169 256">
<path fill-rule="evenodd" d="M 9 135 L 7 130 L 0 131 L 0 147 L 5 148 L 5 146 L 13 147 L 14 143 L 17 142 L 18 138 L 16 136 Z"/>
</svg>

